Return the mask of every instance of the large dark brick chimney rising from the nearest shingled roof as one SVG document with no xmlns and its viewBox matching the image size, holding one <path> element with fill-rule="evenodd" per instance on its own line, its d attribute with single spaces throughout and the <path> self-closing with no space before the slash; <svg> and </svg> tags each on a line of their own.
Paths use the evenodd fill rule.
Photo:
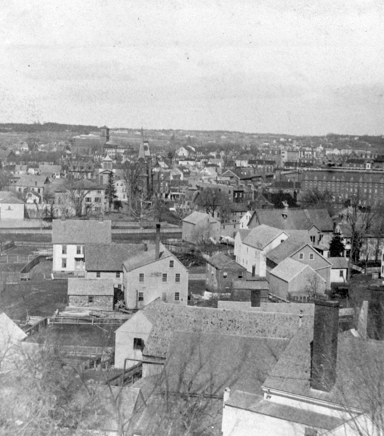
<svg viewBox="0 0 384 436">
<path fill-rule="evenodd" d="M 311 344 L 311 388 L 330 392 L 336 381 L 339 302 L 315 301 Z"/>
</svg>

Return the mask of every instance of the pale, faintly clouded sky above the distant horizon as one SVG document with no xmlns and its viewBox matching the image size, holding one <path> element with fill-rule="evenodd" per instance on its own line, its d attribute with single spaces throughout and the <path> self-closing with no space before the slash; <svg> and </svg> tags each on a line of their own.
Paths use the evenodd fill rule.
<svg viewBox="0 0 384 436">
<path fill-rule="evenodd" d="M 0 123 L 384 134 L 384 3 L 8 0 Z"/>
</svg>

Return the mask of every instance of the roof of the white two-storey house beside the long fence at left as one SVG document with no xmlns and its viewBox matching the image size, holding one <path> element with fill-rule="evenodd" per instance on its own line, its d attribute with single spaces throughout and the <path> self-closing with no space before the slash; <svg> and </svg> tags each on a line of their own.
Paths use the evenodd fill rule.
<svg viewBox="0 0 384 436">
<path fill-rule="evenodd" d="M 111 244 L 111 221 L 52 221 L 52 244 Z"/>
</svg>

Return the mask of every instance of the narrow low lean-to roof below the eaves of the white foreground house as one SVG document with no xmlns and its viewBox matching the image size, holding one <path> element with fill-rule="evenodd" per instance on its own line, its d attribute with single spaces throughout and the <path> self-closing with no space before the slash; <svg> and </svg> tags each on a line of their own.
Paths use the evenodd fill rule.
<svg viewBox="0 0 384 436">
<path fill-rule="evenodd" d="M 297 407 L 266 401 L 261 395 L 237 390 L 231 393 L 225 403 L 240 409 L 250 410 L 261 415 L 272 416 L 284 421 L 295 422 L 303 426 L 316 427 L 318 429 L 331 430 L 343 424 L 343 420 L 322 413 L 312 412 Z"/>
</svg>

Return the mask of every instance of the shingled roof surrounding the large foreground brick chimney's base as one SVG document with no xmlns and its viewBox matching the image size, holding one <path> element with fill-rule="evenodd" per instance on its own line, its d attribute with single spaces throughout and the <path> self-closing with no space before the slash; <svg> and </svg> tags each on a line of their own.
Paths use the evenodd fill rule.
<svg viewBox="0 0 384 436">
<path fill-rule="evenodd" d="M 384 362 L 382 341 L 339 334 L 336 383 L 330 392 L 310 387 L 311 341 L 313 327 L 300 329 L 265 380 L 264 387 L 360 410 L 369 407 L 367 399 L 382 397 L 382 383 L 378 383 L 382 378 Z"/>
</svg>

